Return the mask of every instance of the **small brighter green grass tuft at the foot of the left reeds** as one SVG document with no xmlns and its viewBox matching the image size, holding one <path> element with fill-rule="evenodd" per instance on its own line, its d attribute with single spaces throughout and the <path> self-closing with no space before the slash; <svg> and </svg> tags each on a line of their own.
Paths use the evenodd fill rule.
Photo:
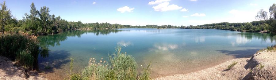
<svg viewBox="0 0 276 80">
<path fill-rule="evenodd" d="M 16 53 L 15 61 L 19 65 L 23 65 L 26 69 L 32 69 L 33 68 L 33 55 L 26 52 L 25 50 L 21 50 Z"/>
</svg>

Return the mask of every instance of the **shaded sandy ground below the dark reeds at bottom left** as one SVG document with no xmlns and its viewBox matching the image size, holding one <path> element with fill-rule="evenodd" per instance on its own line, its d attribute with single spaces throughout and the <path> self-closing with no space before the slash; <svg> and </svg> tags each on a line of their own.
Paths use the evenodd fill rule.
<svg viewBox="0 0 276 80">
<path fill-rule="evenodd" d="M 24 68 L 14 64 L 9 58 L 0 56 L 0 80 L 47 80 L 36 71 L 25 72 Z"/>
</svg>

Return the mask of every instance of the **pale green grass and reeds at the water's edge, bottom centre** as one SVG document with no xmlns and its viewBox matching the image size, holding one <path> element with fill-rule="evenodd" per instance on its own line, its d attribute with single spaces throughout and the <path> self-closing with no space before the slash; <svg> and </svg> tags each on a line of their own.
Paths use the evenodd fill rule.
<svg viewBox="0 0 276 80">
<path fill-rule="evenodd" d="M 150 64 L 143 71 L 138 73 L 137 64 L 134 57 L 121 52 L 121 47 L 116 48 L 116 53 L 109 55 L 109 63 L 103 58 L 97 62 L 95 58 L 90 58 L 88 66 L 81 74 L 72 73 L 73 59 L 70 63 L 71 80 L 150 80 Z"/>
</svg>

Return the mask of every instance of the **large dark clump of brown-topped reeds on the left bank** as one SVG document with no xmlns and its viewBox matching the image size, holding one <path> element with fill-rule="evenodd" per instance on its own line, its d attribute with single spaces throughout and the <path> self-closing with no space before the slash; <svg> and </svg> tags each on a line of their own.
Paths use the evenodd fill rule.
<svg viewBox="0 0 276 80">
<path fill-rule="evenodd" d="M 48 49 L 41 49 L 36 36 L 22 32 L 6 32 L 1 40 L 0 55 L 16 61 L 17 65 L 26 69 L 37 68 L 38 55 L 48 56 Z"/>
</svg>

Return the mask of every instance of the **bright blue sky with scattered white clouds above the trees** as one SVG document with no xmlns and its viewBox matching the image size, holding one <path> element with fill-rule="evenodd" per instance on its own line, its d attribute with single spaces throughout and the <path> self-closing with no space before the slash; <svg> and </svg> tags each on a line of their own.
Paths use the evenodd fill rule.
<svg viewBox="0 0 276 80">
<path fill-rule="evenodd" d="M 276 0 L 6 0 L 17 19 L 29 14 L 32 2 L 67 21 L 187 26 L 255 21 L 257 12 L 268 11 Z"/>
</svg>

